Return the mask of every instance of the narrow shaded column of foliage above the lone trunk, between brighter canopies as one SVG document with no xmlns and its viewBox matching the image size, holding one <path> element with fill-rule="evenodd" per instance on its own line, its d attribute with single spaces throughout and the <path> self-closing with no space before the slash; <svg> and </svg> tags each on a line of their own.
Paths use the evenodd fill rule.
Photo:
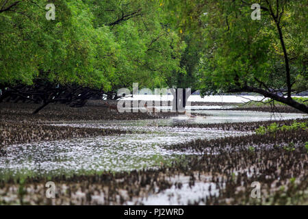
<svg viewBox="0 0 308 219">
<path fill-rule="evenodd" d="M 181 70 L 175 71 L 167 78 L 168 86 L 177 88 L 198 89 L 198 65 L 205 52 L 202 12 L 205 4 L 199 0 L 177 1 L 160 0 L 160 8 L 164 14 L 164 21 L 168 29 L 175 30 L 186 47 L 181 54 Z"/>
</svg>

